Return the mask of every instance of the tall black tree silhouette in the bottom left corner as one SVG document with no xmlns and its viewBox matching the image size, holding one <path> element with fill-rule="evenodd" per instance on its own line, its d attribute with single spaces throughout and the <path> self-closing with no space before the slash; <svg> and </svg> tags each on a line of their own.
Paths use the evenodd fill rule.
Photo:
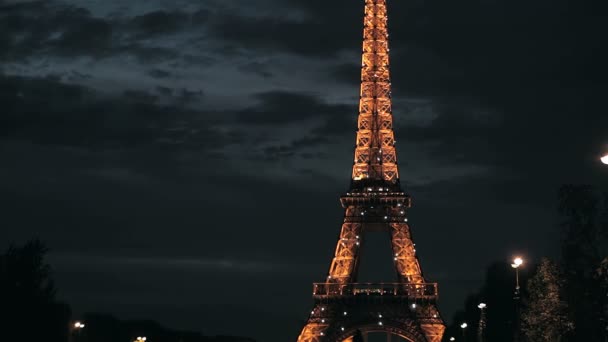
<svg viewBox="0 0 608 342">
<path fill-rule="evenodd" d="M 39 240 L 0 255 L 0 341 L 67 341 L 70 310 L 55 299 Z"/>
</svg>

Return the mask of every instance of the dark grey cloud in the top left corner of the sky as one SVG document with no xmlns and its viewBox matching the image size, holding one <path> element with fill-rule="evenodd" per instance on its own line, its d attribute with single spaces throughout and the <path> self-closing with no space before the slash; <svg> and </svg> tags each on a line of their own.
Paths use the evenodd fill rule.
<svg viewBox="0 0 608 342">
<path fill-rule="evenodd" d="M 195 13 L 152 11 L 133 18 L 95 17 L 84 7 L 61 3 L 14 4 L 0 11 L 0 57 L 24 58 L 89 56 L 107 58 L 133 55 L 140 62 L 173 60 L 181 55 L 155 45 L 159 36 L 202 25 L 206 11 Z"/>
</svg>

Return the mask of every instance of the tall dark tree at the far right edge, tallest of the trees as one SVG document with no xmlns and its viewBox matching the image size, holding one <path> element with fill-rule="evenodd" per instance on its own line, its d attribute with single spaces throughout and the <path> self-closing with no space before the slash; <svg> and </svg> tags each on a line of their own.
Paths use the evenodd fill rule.
<svg viewBox="0 0 608 342">
<path fill-rule="evenodd" d="M 570 340 L 603 341 L 606 289 L 597 269 L 606 256 L 608 196 L 588 185 L 564 185 L 559 213 L 565 294 L 575 324 Z"/>
</svg>

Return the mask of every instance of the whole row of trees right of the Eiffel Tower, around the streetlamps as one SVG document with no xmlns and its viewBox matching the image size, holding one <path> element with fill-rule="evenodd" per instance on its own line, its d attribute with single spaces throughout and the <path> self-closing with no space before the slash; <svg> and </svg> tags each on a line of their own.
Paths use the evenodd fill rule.
<svg viewBox="0 0 608 342">
<path fill-rule="evenodd" d="M 561 255 L 520 269 L 519 315 L 514 271 L 506 261 L 493 263 L 482 288 L 454 315 L 444 341 L 479 341 L 480 302 L 488 305 L 483 341 L 608 341 L 608 194 L 565 185 L 558 203 Z M 468 324 L 465 336 L 462 322 Z"/>
</svg>

